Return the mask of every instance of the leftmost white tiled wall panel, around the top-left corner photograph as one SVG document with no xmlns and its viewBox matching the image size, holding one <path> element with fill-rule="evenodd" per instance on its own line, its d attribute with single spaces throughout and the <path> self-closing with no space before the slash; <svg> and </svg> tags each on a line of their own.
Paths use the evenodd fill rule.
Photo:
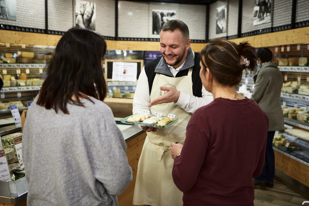
<svg viewBox="0 0 309 206">
<path fill-rule="evenodd" d="M 16 21 L 0 19 L 0 23 L 45 29 L 45 1 L 16 0 Z"/>
</svg>

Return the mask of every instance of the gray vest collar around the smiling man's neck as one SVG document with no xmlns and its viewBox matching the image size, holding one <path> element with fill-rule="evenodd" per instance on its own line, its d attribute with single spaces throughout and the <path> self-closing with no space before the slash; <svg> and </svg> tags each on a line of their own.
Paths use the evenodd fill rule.
<svg viewBox="0 0 309 206">
<path fill-rule="evenodd" d="M 191 47 L 188 50 L 188 56 L 186 59 L 186 62 L 184 63 L 183 67 L 180 69 L 180 71 L 190 69 L 194 66 L 194 55 Z M 155 73 L 159 74 L 165 74 L 167 76 L 173 77 L 173 74 L 171 73 L 170 68 L 167 66 L 166 61 L 163 57 L 161 57 L 159 64 L 155 68 Z"/>
</svg>

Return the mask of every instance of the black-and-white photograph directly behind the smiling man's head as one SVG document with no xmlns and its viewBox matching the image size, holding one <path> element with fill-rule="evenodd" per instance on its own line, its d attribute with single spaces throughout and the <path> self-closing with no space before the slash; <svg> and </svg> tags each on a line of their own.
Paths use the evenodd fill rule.
<svg viewBox="0 0 309 206">
<path fill-rule="evenodd" d="M 160 34 L 163 24 L 171 19 L 176 19 L 176 11 L 152 10 L 152 34 Z"/>
</svg>

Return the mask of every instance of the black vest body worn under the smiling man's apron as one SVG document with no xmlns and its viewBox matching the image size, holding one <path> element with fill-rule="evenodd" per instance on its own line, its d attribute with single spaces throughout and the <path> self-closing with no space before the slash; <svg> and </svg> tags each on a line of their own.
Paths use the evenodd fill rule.
<svg viewBox="0 0 309 206">
<path fill-rule="evenodd" d="M 145 72 L 148 78 L 148 85 L 149 85 L 149 94 L 151 94 L 151 89 L 152 89 L 152 84 L 154 82 L 155 79 L 155 68 L 156 66 L 159 64 L 160 59 L 162 58 L 159 57 L 155 60 L 152 60 L 150 62 L 147 62 L 145 64 Z M 200 78 L 200 61 L 201 61 L 201 57 L 200 54 L 195 52 L 194 53 L 194 66 L 192 69 L 192 91 L 193 91 L 193 95 L 196 97 L 202 97 L 202 81 Z M 187 76 L 188 75 L 188 71 L 190 68 L 185 69 L 185 70 L 180 70 L 177 74 L 176 77 L 183 77 L 183 76 Z M 165 75 L 165 74 L 161 74 L 161 75 Z M 165 75 L 168 76 L 168 75 Z M 169 77 L 173 77 L 173 76 L 169 76 Z"/>
</svg>

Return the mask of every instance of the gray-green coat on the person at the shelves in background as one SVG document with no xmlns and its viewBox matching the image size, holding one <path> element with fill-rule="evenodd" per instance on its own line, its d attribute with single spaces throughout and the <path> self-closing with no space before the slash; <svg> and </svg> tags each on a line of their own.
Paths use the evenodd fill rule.
<svg viewBox="0 0 309 206">
<path fill-rule="evenodd" d="M 265 62 L 253 77 L 255 88 L 251 99 L 259 104 L 269 120 L 268 131 L 284 130 L 280 95 L 282 74 L 271 61 Z"/>
</svg>

